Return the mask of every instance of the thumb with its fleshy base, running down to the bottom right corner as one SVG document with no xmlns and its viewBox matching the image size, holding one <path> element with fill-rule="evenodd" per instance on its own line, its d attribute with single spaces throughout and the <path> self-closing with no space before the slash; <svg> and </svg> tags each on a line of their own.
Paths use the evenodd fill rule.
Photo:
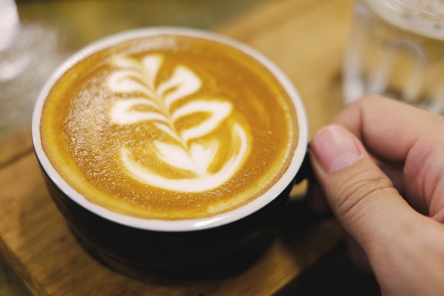
<svg viewBox="0 0 444 296">
<path fill-rule="evenodd" d="M 444 226 L 412 209 L 342 126 L 322 128 L 310 148 L 323 194 L 383 295 L 444 295 Z M 352 258 L 365 263 L 353 243 Z"/>
</svg>

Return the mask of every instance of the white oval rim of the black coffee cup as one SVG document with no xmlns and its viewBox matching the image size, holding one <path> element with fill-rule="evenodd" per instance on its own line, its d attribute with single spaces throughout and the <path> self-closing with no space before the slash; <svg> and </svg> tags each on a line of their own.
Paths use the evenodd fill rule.
<svg viewBox="0 0 444 296">
<path fill-rule="evenodd" d="M 205 38 L 237 48 L 243 53 L 246 53 L 253 57 L 255 60 L 257 60 L 257 62 L 260 62 L 262 65 L 264 65 L 267 70 L 269 70 L 272 75 L 274 75 L 274 77 L 276 77 L 277 80 L 282 84 L 282 87 L 292 99 L 292 103 L 294 104 L 294 108 L 296 111 L 299 135 L 297 146 L 294 150 L 289 168 L 286 172 L 284 172 L 284 175 L 282 175 L 282 177 L 270 188 L 270 190 L 268 190 L 265 194 L 262 194 L 260 197 L 252 200 L 252 202 L 249 202 L 248 204 L 245 204 L 241 207 L 232 209 L 231 211 L 225 212 L 223 214 L 199 219 L 160 220 L 141 219 L 133 216 L 126 216 L 124 214 L 112 212 L 109 209 L 105 209 L 104 207 L 100 207 L 97 204 L 89 202 L 89 200 L 83 197 L 82 194 L 79 194 L 79 192 L 74 190 L 65 180 L 63 180 L 57 170 L 52 167 L 50 160 L 45 155 L 40 139 L 40 118 L 45 98 L 50 92 L 52 85 L 55 84 L 55 82 L 77 61 L 82 60 L 84 57 L 87 57 L 88 55 L 91 55 L 96 51 L 107 48 L 110 45 L 119 43 L 123 40 L 131 40 L 134 38 L 158 34 L 187 35 L 191 37 Z M 125 226 L 130 226 L 136 229 L 167 232 L 197 231 L 230 224 L 234 221 L 243 219 L 244 217 L 257 212 L 259 209 L 262 209 L 262 207 L 265 207 L 267 204 L 270 204 L 270 202 L 276 199 L 279 194 L 281 194 L 285 190 L 285 188 L 287 188 L 292 183 L 292 180 L 294 180 L 294 177 L 299 171 L 299 168 L 301 168 L 308 143 L 308 121 L 306 117 L 306 111 L 304 109 L 304 104 L 301 100 L 301 97 L 299 96 L 299 92 L 297 92 L 296 88 L 289 80 L 287 75 L 285 75 L 284 72 L 282 72 L 282 70 L 280 70 L 279 67 L 277 67 L 277 65 L 275 65 L 274 62 L 272 62 L 269 58 L 265 57 L 265 55 L 250 47 L 249 45 L 241 43 L 240 41 L 233 38 L 229 38 L 226 35 L 221 35 L 219 33 L 214 33 L 211 31 L 202 31 L 195 28 L 148 27 L 130 31 L 123 31 L 121 33 L 110 35 L 106 38 L 101 38 L 96 42 L 91 43 L 90 45 L 87 45 L 86 47 L 77 51 L 77 53 L 74 53 L 71 57 L 65 60 L 62 65 L 57 67 L 57 70 L 55 70 L 55 72 L 53 72 L 53 74 L 49 77 L 49 79 L 43 86 L 43 89 L 41 89 L 40 94 L 38 95 L 38 99 L 35 103 L 33 111 L 31 135 L 33 139 L 35 154 L 37 155 L 40 166 L 45 171 L 46 175 L 48 175 L 51 182 L 53 182 L 67 197 L 72 199 L 73 202 L 79 204 L 84 209 L 89 210 L 89 212 L 101 216 L 102 218 L 109 221 L 116 222 L 117 224 L 123 224 Z"/>
</svg>

